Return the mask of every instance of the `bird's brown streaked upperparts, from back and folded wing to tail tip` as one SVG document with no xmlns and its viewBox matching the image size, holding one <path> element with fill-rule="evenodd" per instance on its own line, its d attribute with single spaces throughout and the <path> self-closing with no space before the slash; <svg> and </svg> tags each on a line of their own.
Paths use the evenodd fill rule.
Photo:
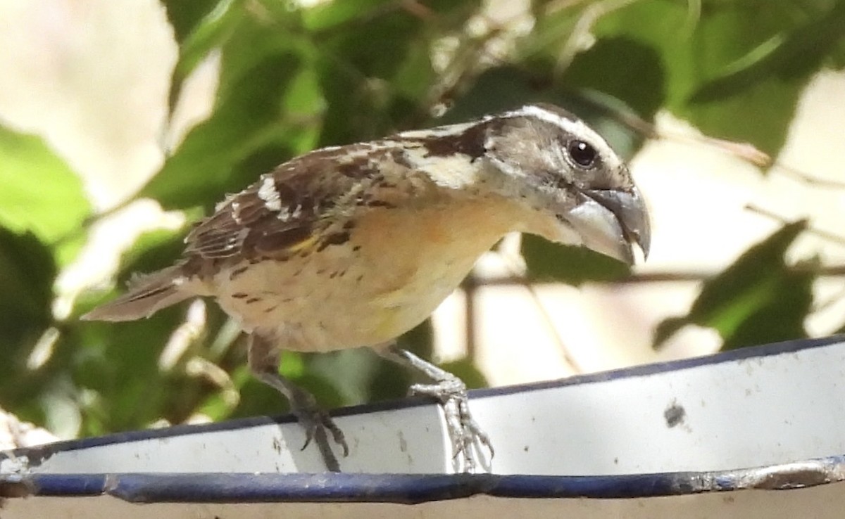
<svg viewBox="0 0 845 519">
<path fill-rule="evenodd" d="M 283 259 L 322 251 L 350 239 L 353 217 L 425 198 L 437 189 L 414 169 L 408 147 L 446 153 L 431 139 L 396 136 L 373 143 L 319 149 L 292 159 L 227 197 L 185 238 L 175 266 L 137 279 L 126 295 L 84 318 L 125 321 L 150 316 L 201 293 L 194 278 L 219 272 L 221 264 L 255 257 Z M 465 153 L 455 149 L 455 153 Z M 198 291 L 199 290 L 199 291 Z"/>
</svg>

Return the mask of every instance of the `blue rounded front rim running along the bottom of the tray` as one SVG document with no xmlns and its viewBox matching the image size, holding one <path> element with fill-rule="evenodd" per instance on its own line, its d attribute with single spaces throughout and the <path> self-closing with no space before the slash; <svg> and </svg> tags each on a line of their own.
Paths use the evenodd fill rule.
<svg viewBox="0 0 845 519">
<path fill-rule="evenodd" d="M 132 502 L 390 502 L 420 503 L 471 495 L 507 498 L 630 499 L 749 488 L 793 489 L 835 483 L 845 457 L 815 460 L 809 470 L 794 465 L 724 472 L 540 476 L 497 474 L 279 474 L 128 473 L 32 474 L 0 477 L 34 495 L 105 493 Z M 767 478 L 771 476 L 771 478 Z M 0 492 L 3 495 L 3 492 Z M 8 494 L 7 494 L 8 495 Z"/>
</svg>

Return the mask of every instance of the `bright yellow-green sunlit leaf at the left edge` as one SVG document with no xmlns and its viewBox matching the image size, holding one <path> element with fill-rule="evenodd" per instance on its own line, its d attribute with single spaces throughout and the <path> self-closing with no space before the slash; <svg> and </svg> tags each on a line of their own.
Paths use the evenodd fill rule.
<svg viewBox="0 0 845 519">
<path fill-rule="evenodd" d="M 41 138 L 0 127 L 0 225 L 52 242 L 90 214 L 82 182 Z"/>
</svg>

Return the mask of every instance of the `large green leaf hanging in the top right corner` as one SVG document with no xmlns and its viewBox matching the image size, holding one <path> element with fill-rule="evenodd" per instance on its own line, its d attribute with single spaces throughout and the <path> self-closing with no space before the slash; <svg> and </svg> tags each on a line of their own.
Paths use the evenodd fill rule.
<svg viewBox="0 0 845 519">
<path fill-rule="evenodd" d="M 689 4 L 654 0 L 607 14 L 595 34 L 600 41 L 624 36 L 657 51 L 666 74 L 665 108 L 708 135 L 754 143 L 774 155 L 818 70 L 819 61 L 805 50 L 823 43 L 823 52 L 832 51 L 842 23 L 822 20 L 838 19 L 839 4 L 712 2 L 695 12 Z M 639 80 L 636 73 L 624 77 Z"/>
</svg>

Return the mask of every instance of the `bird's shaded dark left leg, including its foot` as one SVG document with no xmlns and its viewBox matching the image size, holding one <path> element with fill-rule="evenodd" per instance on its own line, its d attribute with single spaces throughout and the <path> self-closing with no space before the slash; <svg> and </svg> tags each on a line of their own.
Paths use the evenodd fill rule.
<svg viewBox="0 0 845 519">
<path fill-rule="evenodd" d="M 340 463 L 337 462 L 337 457 L 331 450 L 326 431 L 328 430 L 331 433 L 336 444 L 343 447 L 343 456 L 346 457 L 349 455 L 349 446 L 346 445 L 343 431 L 335 424 L 328 413 L 319 408 L 316 398 L 311 393 L 279 375 L 279 349 L 275 343 L 258 333 L 250 334 L 248 359 L 249 368 L 254 375 L 287 398 L 292 414 L 297 417 L 299 424 L 305 429 L 303 449 L 312 440 L 315 441 L 320 454 L 323 456 L 326 468 L 331 472 L 341 472 Z"/>
</svg>

